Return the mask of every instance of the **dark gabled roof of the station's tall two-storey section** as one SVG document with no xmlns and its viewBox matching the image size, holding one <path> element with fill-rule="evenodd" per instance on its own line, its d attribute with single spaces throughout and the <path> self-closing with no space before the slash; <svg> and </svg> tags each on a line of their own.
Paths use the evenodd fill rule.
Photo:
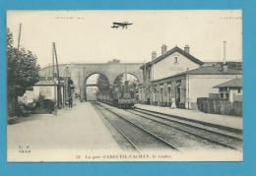
<svg viewBox="0 0 256 176">
<path fill-rule="evenodd" d="M 158 63 L 160 62 L 162 59 L 164 59 L 165 57 L 171 55 L 174 52 L 179 52 L 180 54 L 182 54 L 183 56 L 187 57 L 188 59 L 190 59 L 191 61 L 199 64 L 199 65 L 203 65 L 204 62 L 200 61 L 199 59 L 195 58 L 194 56 L 192 56 L 191 54 L 187 53 L 186 51 L 184 51 L 183 49 L 180 49 L 178 46 L 173 47 L 172 49 L 168 50 L 167 52 L 165 52 L 164 54 L 160 55 L 158 58 L 156 58 L 155 60 L 146 63 L 146 67 Z M 141 66 L 141 69 L 145 67 L 145 64 L 143 64 Z"/>
</svg>

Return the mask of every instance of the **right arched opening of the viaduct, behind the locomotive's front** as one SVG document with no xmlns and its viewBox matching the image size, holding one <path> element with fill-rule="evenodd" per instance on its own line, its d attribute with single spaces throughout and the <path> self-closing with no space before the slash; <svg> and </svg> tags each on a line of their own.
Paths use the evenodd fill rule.
<svg viewBox="0 0 256 176">
<path fill-rule="evenodd" d="M 139 100 L 139 79 L 130 73 L 123 73 L 116 77 L 113 88 L 121 92 L 129 92 L 136 102 Z"/>
</svg>

